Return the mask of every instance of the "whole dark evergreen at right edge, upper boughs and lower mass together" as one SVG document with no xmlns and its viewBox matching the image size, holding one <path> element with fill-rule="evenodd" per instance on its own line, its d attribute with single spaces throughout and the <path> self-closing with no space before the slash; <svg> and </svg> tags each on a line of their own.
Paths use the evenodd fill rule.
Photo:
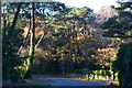
<svg viewBox="0 0 132 88">
<path fill-rule="evenodd" d="M 123 41 L 120 45 L 118 53 L 118 59 L 113 62 L 113 67 L 117 68 L 119 73 L 119 81 L 121 86 L 132 86 L 132 16 L 131 16 L 131 1 L 120 1 L 119 7 L 114 8 L 118 11 L 118 15 L 110 18 L 102 25 L 103 29 L 108 29 L 105 32 L 105 36 L 118 37 Z"/>
</svg>

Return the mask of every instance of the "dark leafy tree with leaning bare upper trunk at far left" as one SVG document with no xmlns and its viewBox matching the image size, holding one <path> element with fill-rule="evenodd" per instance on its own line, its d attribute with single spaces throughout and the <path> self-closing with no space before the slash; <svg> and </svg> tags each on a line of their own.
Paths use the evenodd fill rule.
<svg viewBox="0 0 132 88">
<path fill-rule="evenodd" d="M 3 21 L 4 22 L 7 21 L 8 24 L 6 23 L 4 26 L 2 28 L 3 79 L 11 79 L 13 81 L 18 80 L 21 76 L 19 70 L 15 69 L 15 67 L 20 66 L 22 63 L 22 61 L 19 58 L 16 54 L 20 45 L 22 44 L 22 42 L 18 43 L 18 41 L 22 40 L 20 38 L 22 37 L 21 29 L 15 28 L 21 6 L 22 3 L 15 6 L 16 11 L 14 12 L 14 18 L 12 21 L 3 19 Z"/>
</svg>

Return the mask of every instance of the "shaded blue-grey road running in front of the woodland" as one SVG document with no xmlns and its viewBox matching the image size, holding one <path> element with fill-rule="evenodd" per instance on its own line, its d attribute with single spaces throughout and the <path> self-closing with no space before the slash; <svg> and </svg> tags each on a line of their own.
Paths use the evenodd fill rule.
<svg viewBox="0 0 132 88">
<path fill-rule="evenodd" d="M 101 82 L 61 78 L 61 77 L 33 76 L 33 78 L 43 78 L 43 79 L 52 80 L 53 82 L 48 82 L 51 86 L 105 86 Z"/>
</svg>

